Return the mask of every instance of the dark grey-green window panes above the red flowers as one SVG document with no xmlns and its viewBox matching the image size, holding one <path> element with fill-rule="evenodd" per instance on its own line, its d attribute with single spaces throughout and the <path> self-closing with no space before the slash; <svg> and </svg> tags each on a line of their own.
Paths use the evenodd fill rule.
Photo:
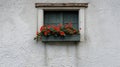
<svg viewBox="0 0 120 67">
<path fill-rule="evenodd" d="M 78 29 L 78 11 L 44 11 L 44 25 L 64 25 L 69 22 Z"/>
</svg>

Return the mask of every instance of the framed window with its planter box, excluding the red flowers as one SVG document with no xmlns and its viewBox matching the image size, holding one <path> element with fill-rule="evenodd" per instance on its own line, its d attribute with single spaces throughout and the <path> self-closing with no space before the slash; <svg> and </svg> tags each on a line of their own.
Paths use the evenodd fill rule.
<svg viewBox="0 0 120 67">
<path fill-rule="evenodd" d="M 37 31 L 42 25 L 72 22 L 76 29 L 80 29 L 80 35 L 67 37 L 65 40 L 44 39 L 42 41 L 84 41 L 85 18 L 88 3 L 35 3 L 37 8 Z M 60 11 L 59 11 L 60 10 Z M 71 10 L 71 11 L 70 11 Z M 76 11 L 77 10 L 77 11 Z"/>
</svg>

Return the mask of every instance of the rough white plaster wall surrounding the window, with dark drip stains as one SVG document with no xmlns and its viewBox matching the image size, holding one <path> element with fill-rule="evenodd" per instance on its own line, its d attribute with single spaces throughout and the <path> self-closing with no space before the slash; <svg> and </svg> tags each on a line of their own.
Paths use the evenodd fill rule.
<svg viewBox="0 0 120 67">
<path fill-rule="evenodd" d="M 84 42 L 33 40 L 34 3 L 89 2 Z M 120 67 L 120 0 L 0 0 L 0 67 Z"/>
</svg>

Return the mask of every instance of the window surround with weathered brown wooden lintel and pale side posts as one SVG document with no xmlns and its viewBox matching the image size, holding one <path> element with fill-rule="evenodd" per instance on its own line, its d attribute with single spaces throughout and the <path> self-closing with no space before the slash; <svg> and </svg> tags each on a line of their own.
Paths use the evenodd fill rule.
<svg viewBox="0 0 120 67">
<path fill-rule="evenodd" d="M 80 30 L 80 41 L 85 40 L 85 9 L 88 3 L 35 3 L 37 8 L 37 31 L 44 24 L 44 10 L 78 10 L 78 21 Z"/>
</svg>

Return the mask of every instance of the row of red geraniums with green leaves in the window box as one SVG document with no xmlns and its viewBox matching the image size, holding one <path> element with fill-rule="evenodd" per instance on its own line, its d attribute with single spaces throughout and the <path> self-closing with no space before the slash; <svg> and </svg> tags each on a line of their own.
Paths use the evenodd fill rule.
<svg viewBox="0 0 120 67">
<path fill-rule="evenodd" d="M 67 23 L 65 25 L 43 25 L 40 27 L 40 33 L 36 32 L 36 35 L 40 34 L 40 36 L 65 36 L 65 35 L 74 35 L 78 34 L 79 30 L 73 28 L 72 22 Z"/>
</svg>

